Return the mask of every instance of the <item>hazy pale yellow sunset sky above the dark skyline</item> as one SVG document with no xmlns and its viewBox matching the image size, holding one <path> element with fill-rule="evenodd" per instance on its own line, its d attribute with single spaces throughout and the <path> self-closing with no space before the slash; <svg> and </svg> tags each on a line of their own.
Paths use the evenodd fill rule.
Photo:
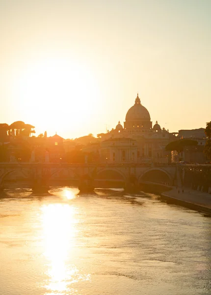
<svg viewBox="0 0 211 295">
<path fill-rule="evenodd" d="M 210 0 L 0 0 L 0 122 L 64 138 L 211 120 Z"/>
</svg>

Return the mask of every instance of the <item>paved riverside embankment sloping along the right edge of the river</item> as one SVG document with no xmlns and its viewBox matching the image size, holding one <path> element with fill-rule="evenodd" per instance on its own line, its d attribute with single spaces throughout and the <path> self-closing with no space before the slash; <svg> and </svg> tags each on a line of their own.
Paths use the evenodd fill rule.
<svg viewBox="0 0 211 295">
<path fill-rule="evenodd" d="M 188 189 L 184 189 L 182 193 L 181 188 L 178 193 L 178 189 L 172 187 L 171 190 L 162 192 L 160 196 L 167 203 L 211 214 L 211 194 Z"/>
</svg>

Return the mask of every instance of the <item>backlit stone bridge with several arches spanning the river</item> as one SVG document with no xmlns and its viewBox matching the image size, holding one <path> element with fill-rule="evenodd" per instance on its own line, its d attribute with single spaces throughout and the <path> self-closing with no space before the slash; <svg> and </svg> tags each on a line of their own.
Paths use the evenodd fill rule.
<svg viewBox="0 0 211 295">
<path fill-rule="evenodd" d="M 95 187 L 124 187 L 125 183 L 155 182 L 174 184 L 176 166 L 143 164 L 68 164 L 68 163 L 0 163 L 0 186 L 7 181 L 27 181 L 47 185 L 55 181 L 92 181 Z"/>
</svg>

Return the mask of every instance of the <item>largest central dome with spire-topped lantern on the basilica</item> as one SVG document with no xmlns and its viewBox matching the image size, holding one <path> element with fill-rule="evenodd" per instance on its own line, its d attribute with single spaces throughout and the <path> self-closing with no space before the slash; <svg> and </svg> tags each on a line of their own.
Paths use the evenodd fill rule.
<svg viewBox="0 0 211 295">
<path fill-rule="evenodd" d="M 135 104 L 128 110 L 126 114 L 126 120 L 133 121 L 133 120 L 144 120 L 150 121 L 150 114 L 147 109 L 141 105 L 140 98 L 137 97 L 135 99 Z"/>
</svg>

